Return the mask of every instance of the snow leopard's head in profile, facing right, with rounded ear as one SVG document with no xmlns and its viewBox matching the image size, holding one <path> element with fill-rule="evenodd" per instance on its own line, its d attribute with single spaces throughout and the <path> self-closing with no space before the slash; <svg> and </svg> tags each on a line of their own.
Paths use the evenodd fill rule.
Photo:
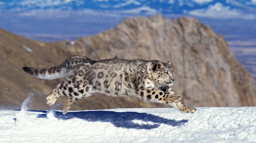
<svg viewBox="0 0 256 143">
<path fill-rule="evenodd" d="M 159 85 L 166 84 L 172 86 L 175 78 L 173 76 L 173 70 L 171 68 L 171 62 L 161 63 L 158 62 L 153 68 L 153 78 Z"/>
</svg>

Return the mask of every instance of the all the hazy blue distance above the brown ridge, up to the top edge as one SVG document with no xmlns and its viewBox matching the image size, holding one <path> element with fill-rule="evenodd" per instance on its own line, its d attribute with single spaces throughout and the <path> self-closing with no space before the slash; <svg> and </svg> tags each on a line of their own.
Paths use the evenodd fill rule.
<svg viewBox="0 0 256 143">
<path fill-rule="evenodd" d="M 76 40 L 114 28 L 125 17 L 158 13 L 210 26 L 256 79 L 255 0 L 1 0 L 0 28 L 44 42 Z"/>
</svg>

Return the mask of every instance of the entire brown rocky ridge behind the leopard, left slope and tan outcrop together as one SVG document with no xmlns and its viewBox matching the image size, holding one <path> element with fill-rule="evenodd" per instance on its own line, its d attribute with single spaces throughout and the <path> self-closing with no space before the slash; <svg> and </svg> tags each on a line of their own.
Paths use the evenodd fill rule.
<svg viewBox="0 0 256 143">
<path fill-rule="evenodd" d="M 176 77 L 174 89 L 187 106 L 256 105 L 255 81 L 231 54 L 224 37 L 194 18 L 169 20 L 160 14 L 148 18 L 126 18 L 115 28 L 81 37 L 74 43 L 42 43 L 3 30 L 0 35 L 0 58 L 4 61 L 0 62 L 2 108 L 19 108 L 29 93 L 29 104 L 33 109 L 49 109 L 44 91 L 49 94 L 63 79 L 36 79 L 23 72 L 21 67 L 54 66 L 71 55 L 84 55 L 93 60 L 141 58 L 171 61 Z M 71 110 L 134 107 L 167 106 L 142 102 L 137 98 L 92 95 L 76 102 Z"/>
</svg>

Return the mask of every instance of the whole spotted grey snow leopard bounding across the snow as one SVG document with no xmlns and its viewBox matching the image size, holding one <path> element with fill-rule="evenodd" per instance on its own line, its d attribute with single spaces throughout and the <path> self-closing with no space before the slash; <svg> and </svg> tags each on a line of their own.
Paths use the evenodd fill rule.
<svg viewBox="0 0 256 143">
<path fill-rule="evenodd" d="M 171 62 L 143 59 L 103 59 L 93 61 L 84 56 L 72 56 L 61 65 L 37 68 L 23 67 L 30 75 L 40 79 L 66 80 L 57 85 L 47 97 L 52 106 L 59 96 L 65 96 L 62 113 L 66 114 L 73 102 L 94 93 L 110 96 L 135 96 L 143 100 L 168 104 L 183 113 L 194 113 L 193 107 L 181 102 L 181 97 L 172 89 L 175 81 Z"/>
</svg>

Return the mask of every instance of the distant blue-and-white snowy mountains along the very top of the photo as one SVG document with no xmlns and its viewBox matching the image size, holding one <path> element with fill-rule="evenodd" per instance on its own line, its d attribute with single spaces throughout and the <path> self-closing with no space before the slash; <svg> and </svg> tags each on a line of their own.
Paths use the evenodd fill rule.
<svg viewBox="0 0 256 143">
<path fill-rule="evenodd" d="M 9 0 L 0 10 L 100 10 L 132 14 L 190 14 L 254 19 L 256 0 Z"/>
</svg>

